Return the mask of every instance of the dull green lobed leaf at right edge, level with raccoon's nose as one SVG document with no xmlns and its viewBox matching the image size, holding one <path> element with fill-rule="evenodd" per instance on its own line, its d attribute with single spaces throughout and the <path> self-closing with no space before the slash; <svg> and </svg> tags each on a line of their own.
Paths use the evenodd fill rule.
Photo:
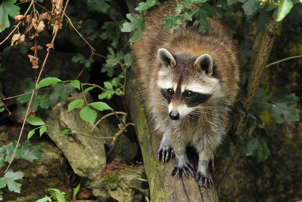
<svg viewBox="0 0 302 202">
<path fill-rule="evenodd" d="M 289 108 L 287 106 L 295 104 L 299 98 L 295 96 L 295 94 L 290 94 L 288 96 L 285 95 L 285 92 L 282 91 L 275 101 L 275 105 L 271 105 L 268 108 L 268 112 L 272 115 L 276 122 L 282 123 L 284 120 L 287 123 L 291 123 L 292 121 L 299 121 L 300 120 L 300 110 Z M 281 117 L 283 115 L 283 118 Z"/>
</svg>

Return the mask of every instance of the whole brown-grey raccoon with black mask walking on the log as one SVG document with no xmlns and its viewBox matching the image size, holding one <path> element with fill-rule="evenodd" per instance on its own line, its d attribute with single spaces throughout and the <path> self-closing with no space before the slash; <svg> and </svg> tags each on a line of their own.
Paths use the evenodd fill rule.
<svg viewBox="0 0 302 202">
<path fill-rule="evenodd" d="M 205 34 L 191 28 L 162 29 L 164 14 L 174 15 L 176 2 L 164 3 L 149 13 L 140 41 L 133 45 L 135 66 L 148 110 L 162 133 L 159 161 L 174 154 L 172 175 L 188 171 L 198 184 L 212 187 L 209 162 L 226 134 L 228 114 L 238 92 L 239 57 L 230 32 L 208 18 Z M 186 146 L 199 156 L 197 171 L 188 160 Z"/>
</svg>

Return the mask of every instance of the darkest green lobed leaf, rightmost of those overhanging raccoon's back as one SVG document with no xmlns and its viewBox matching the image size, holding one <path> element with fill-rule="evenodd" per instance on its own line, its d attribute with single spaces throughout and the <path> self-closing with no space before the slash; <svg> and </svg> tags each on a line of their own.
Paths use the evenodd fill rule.
<svg viewBox="0 0 302 202">
<path fill-rule="evenodd" d="M 214 18 L 213 10 L 210 9 L 209 4 L 207 3 L 201 5 L 199 9 L 192 11 L 192 22 L 197 20 L 198 25 L 196 27 L 196 31 L 201 32 L 202 34 L 206 33 L 209 28 L 207 16 L 212 19 Z"/>
</svg>

